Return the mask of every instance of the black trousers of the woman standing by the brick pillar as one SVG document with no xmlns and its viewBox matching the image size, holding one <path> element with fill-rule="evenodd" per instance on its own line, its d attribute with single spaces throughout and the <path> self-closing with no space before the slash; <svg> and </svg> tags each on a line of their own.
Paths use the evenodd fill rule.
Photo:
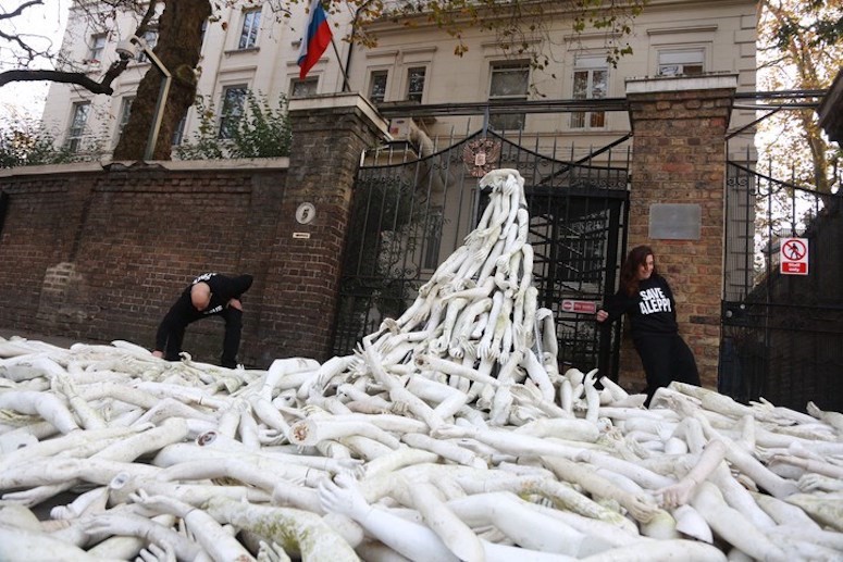
<svg viewBox="0 0 843 562">
<path fill-rule="evenodd" d="M 679 334 L 637 336 L 633 344 L 647 375 L 647 405 L 657 388 L 673 380 L 699 386 L 694 353 Z"/>
</svg>

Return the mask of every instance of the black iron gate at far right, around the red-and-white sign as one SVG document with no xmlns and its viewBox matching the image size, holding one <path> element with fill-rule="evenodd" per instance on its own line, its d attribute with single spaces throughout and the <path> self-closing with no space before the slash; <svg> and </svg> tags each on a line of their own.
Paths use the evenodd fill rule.
<svg viewBox="0 0 843 562">
<path fill-rule="evenodd" d="M 843 197 L 729 163 L 719 390 L 804 411 L 843 409 Z M 782 240 L 807 241 L 805 274 Z"/>
</svg>

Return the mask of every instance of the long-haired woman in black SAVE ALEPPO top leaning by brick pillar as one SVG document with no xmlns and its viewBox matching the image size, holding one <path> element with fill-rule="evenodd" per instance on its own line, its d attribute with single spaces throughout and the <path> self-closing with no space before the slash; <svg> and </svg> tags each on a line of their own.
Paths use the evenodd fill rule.
<svg viewBox="0 0 843 562">
<path fill-rule="evenodd" d="M 668 282 L 658 274 L 653 250 L 633 248 L 621 265 L 620 288 L 597 311 L 597 322 L 615 322 L 629 314 L 635 350 L 647 375 L 647 401 L 671 380 L 699 386 L 694 354 L 677 324 L 677 307 Z"/>
</svg>

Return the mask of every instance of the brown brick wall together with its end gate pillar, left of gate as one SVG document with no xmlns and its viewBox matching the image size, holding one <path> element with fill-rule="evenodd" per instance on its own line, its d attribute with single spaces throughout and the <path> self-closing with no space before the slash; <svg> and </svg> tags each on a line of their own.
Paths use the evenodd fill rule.
<svg viewBox="0 0 843 562">
<path fill-rule="evenodd" d="M 249 273 L 240 359 L 327 359 L 355 174 L 386 127 L 357 95 L 298 104 L 289 159 L 2 171 L 0 327 L 151 348 L 197 274 Z M 222 337 L 206 320 L 184 348 L 216 363 Z"/>
</svg>

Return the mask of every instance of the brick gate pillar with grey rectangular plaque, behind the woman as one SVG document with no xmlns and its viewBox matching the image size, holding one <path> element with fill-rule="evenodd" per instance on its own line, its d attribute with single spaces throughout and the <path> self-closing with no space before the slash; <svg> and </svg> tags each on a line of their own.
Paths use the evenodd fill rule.
<svg viewBox="0 0 843 562">
<path fill-rule="evenodd" d="M 723 282 L 726 133 L 736 75 L 627 80 L 633 130 L 629 248 L 646 243 L 677 299 L 704 386 L 717 387 Z M 624 345 L 622 377 L 643 384 Z"/>
</svg>

